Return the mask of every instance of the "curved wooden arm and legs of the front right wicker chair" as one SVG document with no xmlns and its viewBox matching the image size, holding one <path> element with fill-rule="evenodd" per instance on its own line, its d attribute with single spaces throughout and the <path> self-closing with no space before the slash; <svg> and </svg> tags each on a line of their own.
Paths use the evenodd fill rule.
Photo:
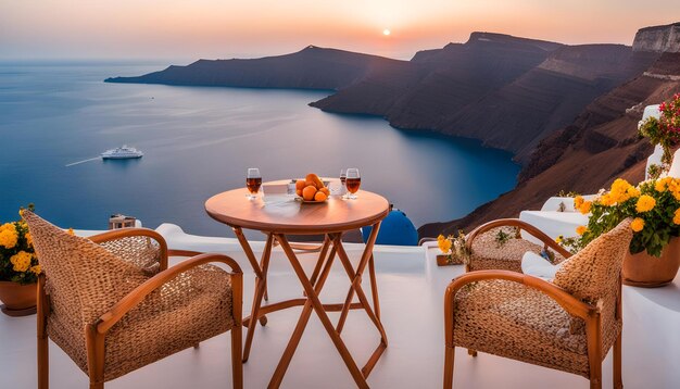
<svg viewBox="0 0 680 389">
<path fill-rule="evenodd" d="M 532 234 L 533 235 L 533 234 Z M 444 389 L 453 387 L 453 365 L 455 355 L 454 343 L 454 311 L 455 294 L 466 285 L 481 280 L 503 279 L 521 284 L 526 287 L 537 289 L 549 298 L 557 302 L 570 315 L 580 317 L 585 322 L 585 336 L 588 348 L 588 361 L 590 366 L 590 387 L 602 388 L 602 322 L 601 306 L 582 302 L 569 292 L 556 285 L 521 273 L 509 271 L 477 271 L 466 273 L 455 278 L 446 288 L 444 293 L 444 331 L 445 331 L 445 354 L 444 354 Z M 621 278 L 619 275 L 618 293 L 616 297 L 615 317 L 621 317 Z M 622 388 L 621 379 L 621 334 L 614 342 L 614 387 Z M 475 352 L 476 353 L 476 352 Z"/>
</svg>

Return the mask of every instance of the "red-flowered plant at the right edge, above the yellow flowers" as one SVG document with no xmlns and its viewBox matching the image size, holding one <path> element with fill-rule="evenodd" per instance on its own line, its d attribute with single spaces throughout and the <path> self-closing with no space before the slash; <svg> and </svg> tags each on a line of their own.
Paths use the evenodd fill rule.
<svg viewBox="0 0 680 389">
<path fill-rule="evenodd" d="M 670 149 L 680 145 L 680 93 L 662 102 L 658 111 L 659 118 L 648 117 L 640 126 L 640 135 L 650 138 L 652 145 L 664 148 L 662 163 L 668 167 L 672 161 Z"/>
</svg>

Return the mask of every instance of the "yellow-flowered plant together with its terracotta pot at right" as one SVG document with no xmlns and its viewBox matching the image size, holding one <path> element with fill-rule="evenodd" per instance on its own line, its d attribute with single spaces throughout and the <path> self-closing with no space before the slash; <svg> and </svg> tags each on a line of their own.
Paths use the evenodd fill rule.
<svg viewBox="0 0 680 389">
<path fill-rule="evenodd" d="M 608 191 L 601 190 L 592 201 L 576 197 L 574 205 L 591 213 L 588 226 L 579 226 L 579 237 L 563 244 L 572 251 L 633 218 L 633 239 L 624 260 L 624 283 L 658 287 L 676 277 L 680 267 L 680 178 L 651 179 L 632 186 L 618 178 Z"/>
</svg>

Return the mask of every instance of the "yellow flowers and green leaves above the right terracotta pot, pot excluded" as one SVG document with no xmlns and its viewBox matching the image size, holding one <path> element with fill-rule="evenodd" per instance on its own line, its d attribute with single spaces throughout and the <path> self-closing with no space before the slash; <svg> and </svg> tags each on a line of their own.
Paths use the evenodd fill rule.
<svg viewBox="0 0 680 389">
<path fill-rule="evenodd" d="M 668 241 L 680 236 L 680 178 L 666 177 L 640 183 L 637 187 L 618 178 L 609 191 L 604 189 L 593 201 L 577 196 L 574 206 L 582 214 L 591 213 L 588 226 L 577 228 L 578 238 L 562 243 L 579 250 L 632 217 L 633 239 L 630 252 L 645 251 L 660 256 Z M 558 238 L 559 240 L 559 238 Z"/>
</svg>

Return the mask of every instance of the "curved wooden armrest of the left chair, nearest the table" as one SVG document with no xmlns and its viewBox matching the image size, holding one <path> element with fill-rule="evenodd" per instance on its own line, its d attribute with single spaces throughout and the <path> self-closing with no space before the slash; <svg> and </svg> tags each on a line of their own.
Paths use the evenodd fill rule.
<svg viewBox="0 0 680 389">
<path fill-rule="evenodd" d="M 238 315 L 240 317 L 240 302 L 236 303 L 237 298 L 240 300 L 242 298 L 242 288 L 243 288 L 243 272 L 239 264 L 230 259 L 227 255 L 223 254 L 201 254 L 193 256 L 187 261 L 180 262 L 175 266 L 167 268 L 155 276 L 149 278 L 133 291 L 127 293 L 123 299 L 121 299 L 117 303 L 115 303 L 109 312 L 102 314 L 99 319 L 96 322 L 95 326 L 97 327 L 97 331 L 99 334 L 106 334 L 111 327 L 113 327 L 126 313 L 133 310 L 137 304 L 139 304 L 147 296 L 153 292 L 155 289 L 163 286 L 165 283 L 172 280 L 177 277 L 180 273 L 187 272 L 193 267 L 210 263 L 210 262 L 222 262 L 229 267 L 231 267 L 231 273 L 229 273 L 232 277 L 232 288 L 235 289 L 235 304 L 234 310 L 239 310 Z"/>
</svg>

